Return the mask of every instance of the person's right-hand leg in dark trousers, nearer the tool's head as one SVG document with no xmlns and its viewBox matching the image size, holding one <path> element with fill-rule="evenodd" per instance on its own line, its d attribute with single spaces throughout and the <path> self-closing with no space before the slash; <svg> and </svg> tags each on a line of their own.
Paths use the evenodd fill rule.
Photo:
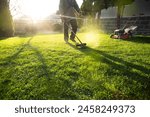
<svg viewBox="0 0 150 117">
<path fill-rule="evenodd" d="M 74 32 L 74 33 L 73 33 L 73 32 L 71 31 L 70 39 L 71 39 L 72 41 L 75 41 L 75 40 L 74 40 L 74 39 L 75 39 L 75 34 L 76 34 L 77 28 L 78 28 L 78 26 L 77 26 L 77 20 L 76 20 L 76 19 L 70 20 L 70 24 L 71 24 L 71 27 L 72 27 L 72 31 Z"/>
</svg>

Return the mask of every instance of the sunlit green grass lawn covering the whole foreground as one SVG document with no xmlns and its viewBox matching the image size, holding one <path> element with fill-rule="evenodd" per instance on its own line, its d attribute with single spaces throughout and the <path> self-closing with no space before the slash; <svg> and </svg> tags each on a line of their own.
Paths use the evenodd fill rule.
<svg viewBox="0 0 150 117">
<path fill-rule="evenodd" d="M 0 99 L 150 99 L 150 37 L 62 34 L 0 40 Z"/>
</svg>

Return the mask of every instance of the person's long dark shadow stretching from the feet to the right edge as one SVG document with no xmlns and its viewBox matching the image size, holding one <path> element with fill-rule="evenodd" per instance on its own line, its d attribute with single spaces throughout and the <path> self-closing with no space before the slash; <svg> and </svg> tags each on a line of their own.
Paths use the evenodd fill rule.
<svg viewBox="0 0 150 117">
<path fill-rule="evenodd" d="M 139 70 L 147 75 L 149 75 L 150 73 L 150 69 L 147 69 L 141 65 L 136 65 L 133 64 L 131 62 L 125 61 L 123 59 L 120 59 L 118 57 L 112 56 L 110 54 L 107 54 L 104 51 L 100 51 L 100 50 L 96 50 L 90 47 L 86 47 L 86 48 L 76 48 L 74 45 L 69 44 L 71 47 L 73 47 L 74 49 L 78 49 L 79 51 L 85 53 L 86 55 L 91 56 L 92 58 L 94 58 L 96 61 L 100 61 L 102 58 L 102 61 L 112 65 L 113 68 L 123 68 L 123 71 L 128 71 L 129 73 L 131 72 L 131 69 L 136 69 Z M 116 64 L 116 63 L 120 63 L 120 64 Z M 130 70 L 129 70 L 130 69 Z M 121 69 L 120 69 L 121 70 Z M 137 74 L 138 75 L 138 74 Z M 144 77 L 144 76 L 142 76 Z M 150 76 L 149 76 L 150 77 Z"/>
</svg>

